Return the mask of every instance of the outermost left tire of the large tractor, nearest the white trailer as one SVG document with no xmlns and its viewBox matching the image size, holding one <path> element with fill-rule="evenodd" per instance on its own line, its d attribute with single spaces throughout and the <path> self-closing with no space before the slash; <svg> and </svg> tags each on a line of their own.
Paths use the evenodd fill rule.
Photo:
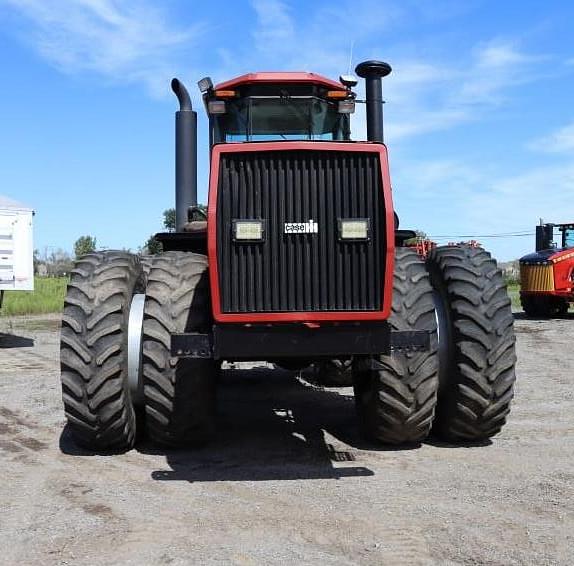
<svg viewBox="0 0 574 566">
<path fill-rule="evenodd" d="M 127 328 L 132 297 L 144 288 L 140 262 L 126 252 L 90 253 L 71 272 L 62 316 L 62 397 L 73 438 L 90 450 L 133 447 Z"/>
</svg>

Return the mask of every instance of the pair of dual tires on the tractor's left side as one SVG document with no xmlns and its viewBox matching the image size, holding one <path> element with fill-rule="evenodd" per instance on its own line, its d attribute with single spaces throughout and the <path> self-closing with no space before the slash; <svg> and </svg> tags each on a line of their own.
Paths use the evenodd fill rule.
<svg viewBox="0 0 574 566">
<path fill-rule="evenodd" d="M 143 293 L 143 353 L 134 385 L 129 314 L 133 297 Z M 129 450 L 142 422 L 136 411 L 144 410 L 154 441 L 205 442 L 215 422 L 213 363 L 172 358 L 170 336 L 205 330 L 209 313 L 205 256 L 167 252 L 143 263 L 116 251 L 82 257 L 68 285 L 60 355 L 64 409 L 76 442 L 94 451 Z"/>
</svg>

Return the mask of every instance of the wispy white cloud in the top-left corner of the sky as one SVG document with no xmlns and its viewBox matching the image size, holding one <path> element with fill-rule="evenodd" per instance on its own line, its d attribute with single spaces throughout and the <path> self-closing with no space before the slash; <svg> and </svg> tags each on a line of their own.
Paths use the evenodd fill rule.
<svg viewBox="0 0 574 566">
<path fill-rule="evenodd" d="M 24 21 L 21 34 L 66 73 L 96 72 L 164 92 L 201 27 L 177 29 L 145 0 L 3 0 Z M 178 57 L 179 55 L 179 57 Z"/>
</svg>

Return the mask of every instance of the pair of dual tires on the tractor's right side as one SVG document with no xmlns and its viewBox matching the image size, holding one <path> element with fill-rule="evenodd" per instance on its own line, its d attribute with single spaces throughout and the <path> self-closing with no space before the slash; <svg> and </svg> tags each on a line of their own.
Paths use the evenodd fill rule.
<svg viewBox="0 0 574 566">
<path fill-rule="evenodd" d="M 362 360 L 355 401 L 367 436 L 385 444 L 479 442 L 506 421 L 515 382 L 515 336 L 501 271 L 480 248 L 435 248 L 426 265 L 397 248 L 392 330 L 426 330 L 426 352 Z"/>
</svg>

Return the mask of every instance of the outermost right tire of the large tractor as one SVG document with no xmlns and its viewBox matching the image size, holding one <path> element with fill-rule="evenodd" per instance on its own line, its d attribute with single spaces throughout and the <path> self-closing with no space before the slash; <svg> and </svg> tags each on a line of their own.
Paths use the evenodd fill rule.
<svg viewBox="0 0 574 566">
<path fill-rule="evenodd" d="M 498 433 L 510 411 L 515 336 L 502 272 L 481 248 L 435 248 L 427 259 L 439 323 L 435 430 L 450 441 Z"/>
</svg>

